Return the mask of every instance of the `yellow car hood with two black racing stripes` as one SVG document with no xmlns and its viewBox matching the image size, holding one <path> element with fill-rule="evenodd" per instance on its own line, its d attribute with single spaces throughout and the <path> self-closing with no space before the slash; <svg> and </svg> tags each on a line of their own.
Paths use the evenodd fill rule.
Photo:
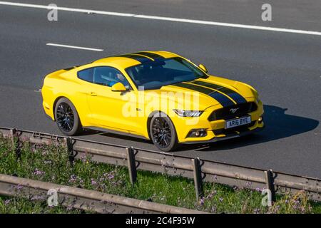
<svg viewBox="0 0 321 228">
<path fill-rule="evenodd" d="M 245 98 L 253 98 L 256 93 L 254 88 L 245 83 L 216 76 L 175 83 L 145 92 L 148 95 L 161 95 L 185 110 L 205 110 L 213 105 L 227 107 L 235 103 L 245 103 Z"/>
</svg>

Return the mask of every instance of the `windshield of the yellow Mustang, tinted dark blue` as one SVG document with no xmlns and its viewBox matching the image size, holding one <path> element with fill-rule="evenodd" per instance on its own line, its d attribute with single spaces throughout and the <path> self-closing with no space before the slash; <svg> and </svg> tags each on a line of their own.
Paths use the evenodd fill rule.
<svg viewBox="0 0 321 228">
<path fill-rule="evenodd" d="M 131 66 L 126 68 L 126 72 L 140 90 L 151 90 L 208 77 L 192 63 L 179 57 L 164 58 Z"/>
</svg>

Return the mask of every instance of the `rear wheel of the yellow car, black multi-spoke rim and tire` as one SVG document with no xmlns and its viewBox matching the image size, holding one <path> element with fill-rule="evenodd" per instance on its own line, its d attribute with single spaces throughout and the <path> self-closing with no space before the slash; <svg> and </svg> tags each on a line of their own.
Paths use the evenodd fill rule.
<svg viewBox="0 0 321 228">
<path fill-rule="evenodd" d="M 64 135 L 79 135 L 83 132 L 77 110 L 67 98 L 60 98 L 56 103 L 55 120 L 59 130 Z"/>
</svg>

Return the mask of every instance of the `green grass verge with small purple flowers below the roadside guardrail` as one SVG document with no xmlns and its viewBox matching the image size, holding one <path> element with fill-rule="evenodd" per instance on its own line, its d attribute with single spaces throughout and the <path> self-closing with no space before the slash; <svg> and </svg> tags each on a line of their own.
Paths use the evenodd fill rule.
<svg viewBox="0 0 321 228">
<path fill-rule="evenodd" d="M 195 200 L 193 180 L 166 174 L 138 171 L 138 182 L 132 186 L 126 167 L 106 165 L 84 156 L 72 164 L 65 147 L 34 147 L 23 142 L 16 152 L 11 140 L 0 136 L 0 173 L 81 187 L 113 195 L 151 200 L 161 204 L 216 213 L 321 213 L 321 204 L 307 200 L 305 192 L 277 196 L 272 207 L 261 204 L 260 190 L 204 184 L 204 197 Z M 79 213 L 63 207 L 49 208 L 46 200 L 0 197 L 0 213 Z"/>
</svg>

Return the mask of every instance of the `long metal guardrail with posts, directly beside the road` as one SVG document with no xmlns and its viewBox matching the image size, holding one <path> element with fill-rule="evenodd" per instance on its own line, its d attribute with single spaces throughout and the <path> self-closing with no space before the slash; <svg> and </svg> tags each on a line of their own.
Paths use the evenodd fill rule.
<svg viewBox="0 0 321 228">
<path fill-rule="evenodd" d="M 88 154 L 94 161 L 128 167 L 133 182 L 136 180 L 136 169 L 192 178 L 197 197 L 202 195 L 202 183 L 206 181 L 252 190 L 267 188 L 271 190 L 272 198 L 275 198 L 275 192 L 305 190 L 310 199 L 321 201 L 321 180 L 317 178 L 26 130 L 0 128 L 0 133 L 6 137 L 28 139 L 35 144 L 66 143 L 69 152 L 76 158 Z"/>
</svg>

